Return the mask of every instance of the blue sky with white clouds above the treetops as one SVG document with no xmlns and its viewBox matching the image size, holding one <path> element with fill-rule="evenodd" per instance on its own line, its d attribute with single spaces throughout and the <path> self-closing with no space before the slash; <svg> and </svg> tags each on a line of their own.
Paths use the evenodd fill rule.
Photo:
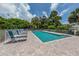
<svg viewBox="0 0 79 59">
<path fill-rule="evenodd" d="M 69 14 L 76 8 L 79 8 L 78 3 L 1 3 L 0 16 L 31 21 L 35 16 L 48 17 L 52 10 L 56 10 L 62 17 L 61 22 L 67 24 Z"/>
</svg>

